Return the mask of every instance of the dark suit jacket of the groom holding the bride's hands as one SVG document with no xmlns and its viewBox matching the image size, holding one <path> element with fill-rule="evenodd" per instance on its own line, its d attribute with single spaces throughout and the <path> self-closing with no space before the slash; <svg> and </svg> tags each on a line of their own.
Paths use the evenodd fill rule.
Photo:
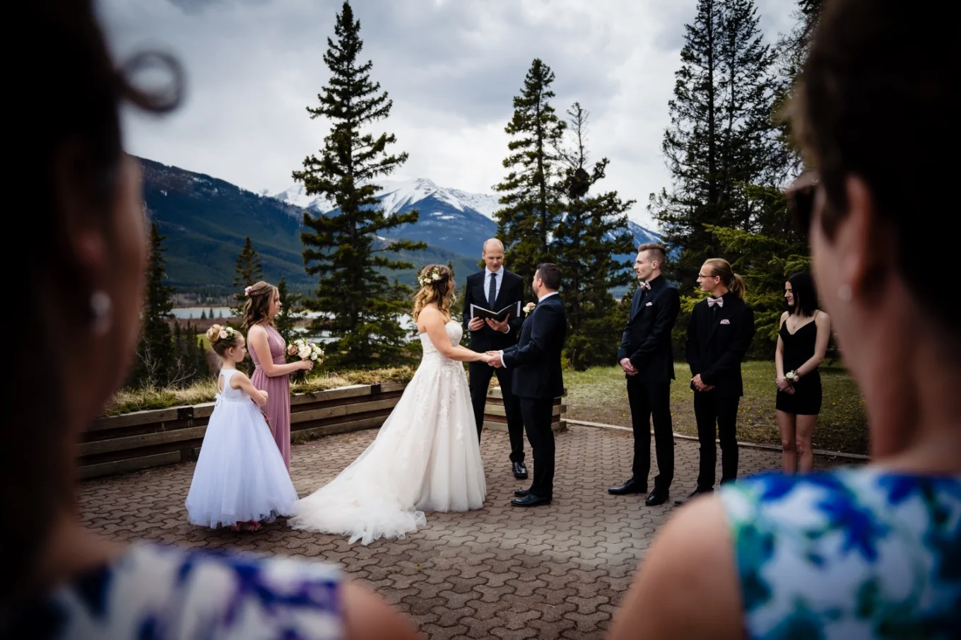
<svg viewBox="0 0 961 640">
<path fill-rule="evenodd" d="M 514 370 L 511 391 L 517 397 L 553 399 L 564 394 L 560 351 L 567 337 L 567 312 L 560 295 L 537 303 L 521 327 L 517 346 L 504 349 L 504 365 Z"/>
</svg>

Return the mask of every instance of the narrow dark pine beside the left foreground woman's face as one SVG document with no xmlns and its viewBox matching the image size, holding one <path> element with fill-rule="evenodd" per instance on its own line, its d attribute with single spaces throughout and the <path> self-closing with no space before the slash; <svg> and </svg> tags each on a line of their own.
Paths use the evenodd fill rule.
<svg viewBox="0 0 961 640">
<path fill-rule="evenodd" d="M 173 317 L 170 312 L 174 308 L 174 299 L 173 288 L 163 284 L 166 278 L 164 239 L 157 229 L 157 223 L 151 223 L 143 321 L 133 373 L 133 384 L 137 387 L 161 388 L 170 381 L 169 367 L 173 362 L 174 345 L 169 320 Z"/>
</svg>

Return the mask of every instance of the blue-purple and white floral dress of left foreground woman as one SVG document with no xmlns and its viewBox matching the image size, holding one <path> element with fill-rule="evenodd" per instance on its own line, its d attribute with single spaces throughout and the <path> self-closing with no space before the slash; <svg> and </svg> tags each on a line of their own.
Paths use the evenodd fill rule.
<svg viewBox="0 0 961 640">
<path fill-rule="evenodd" d="M 0 635 L 336 640 L 343 637 L 339 584 L 339 570 L 327 564 L 135 545 L 109 566 L 20 607 L 11 634 Z"/>
</svg>

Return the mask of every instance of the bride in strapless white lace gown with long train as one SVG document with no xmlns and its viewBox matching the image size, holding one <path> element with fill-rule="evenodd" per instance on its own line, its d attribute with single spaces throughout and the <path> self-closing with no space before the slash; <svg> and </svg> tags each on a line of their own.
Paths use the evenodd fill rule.
<svg viewBox="0 0 961 640">
<path fill-rule="evenodd" d="M 451 320 L 451 270 L 419 276 L 413 319 L 424 357 L 377 438 L 331 482 L 294 505 L 295 529 L 350 536 L 367 545 L 427 524 L 424 511 L 480 509 L 487 493 L 477 425 L 461 362 L 490 358 L 459 346 Z"/>
</svg>

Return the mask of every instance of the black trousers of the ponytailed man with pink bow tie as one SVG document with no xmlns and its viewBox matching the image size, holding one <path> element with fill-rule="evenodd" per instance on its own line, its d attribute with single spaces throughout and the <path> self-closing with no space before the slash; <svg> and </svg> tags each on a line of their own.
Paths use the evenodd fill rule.
<svg viewBox="0 0 961 640">
<path fill-rule="evenodd" d="M 718 397 L 712 391 L 694 392 L 694 417 L 698 422 L 701 463 L 698 466 L 698 488 L 714 487 L 717 447 L 714 426 L 721 441 L 721 483 L 737 478 L 737 405 L 740 397 Z"/>
</svg>

